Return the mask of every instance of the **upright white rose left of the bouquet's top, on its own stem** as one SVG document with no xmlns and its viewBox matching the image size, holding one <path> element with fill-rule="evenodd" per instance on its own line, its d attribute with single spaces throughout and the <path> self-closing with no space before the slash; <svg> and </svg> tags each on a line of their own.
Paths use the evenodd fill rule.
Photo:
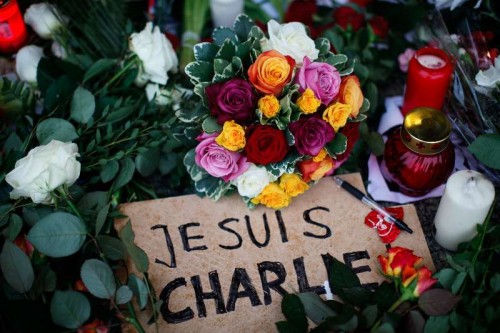
<svg viewBox="0 0 500 333">
<path fill-rule="evenodd" d="M 154 27 L 151 22 L 144 30 L 130 36 L 129 48 L 142 61 L 143 71 L 139 73 L 136 84 L 144 85 L 146 81 L 166 84 L 168 71 L 177 72 L 179 60 L 170 41 Z"/>
</svg>

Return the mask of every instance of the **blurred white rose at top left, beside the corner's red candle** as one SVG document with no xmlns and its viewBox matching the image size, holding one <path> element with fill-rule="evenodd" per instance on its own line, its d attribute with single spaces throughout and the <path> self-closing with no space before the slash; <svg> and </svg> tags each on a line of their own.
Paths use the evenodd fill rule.
<svg viewBox="0 0 500 333">
<path fill-rule="evenodd" d="M 33 4 L 24 14 L 24 22 L 30 25 L 38 36 L 50 39 L 53 33 L 63 25 L 58 18 L 60 15 L 54 13 L 57 13 L 57 8 L 49 3 Z"/>
</svg>

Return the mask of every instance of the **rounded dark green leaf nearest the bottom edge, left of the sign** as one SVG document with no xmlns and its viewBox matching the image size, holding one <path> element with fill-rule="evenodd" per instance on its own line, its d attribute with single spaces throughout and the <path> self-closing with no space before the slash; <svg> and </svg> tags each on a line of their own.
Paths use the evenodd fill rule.
<svg viewBox="0 0 500 333">
<path fill-rule="evenodd" d="M 57 290 L 50 302 L 50 315 L 55 324 L 76 329 L 89 319 L 90 302 L 79 292 Z"/>
</svg>

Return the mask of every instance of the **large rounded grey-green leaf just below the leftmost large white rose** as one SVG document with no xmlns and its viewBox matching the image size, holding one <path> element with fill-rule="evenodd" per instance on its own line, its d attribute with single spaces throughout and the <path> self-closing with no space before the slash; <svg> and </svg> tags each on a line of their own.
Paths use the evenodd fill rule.
<svg viewBox="0 0 500 333">
<path fill-rule="evenodd" d="M 28 240 L 41 253 L 59 258 L 78 251 L 86 235 L 85 224 L 78 217 L 56 212 L 38 221 L 29 231 Z"/>
</svg>

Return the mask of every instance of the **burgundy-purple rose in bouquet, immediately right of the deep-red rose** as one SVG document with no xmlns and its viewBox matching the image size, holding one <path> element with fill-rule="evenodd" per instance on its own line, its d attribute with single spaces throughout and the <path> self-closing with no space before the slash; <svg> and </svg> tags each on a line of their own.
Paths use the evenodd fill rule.
<svg viewBox="0 0 500 333">
<path fill-rule="evenodd" d="M 301 117 L 289 126 L 295 138 L 295 147 L 301 155 L 316 156 L 328 142 L 333 140 L 335 132 L 323 119 Z"/>
</svg>

